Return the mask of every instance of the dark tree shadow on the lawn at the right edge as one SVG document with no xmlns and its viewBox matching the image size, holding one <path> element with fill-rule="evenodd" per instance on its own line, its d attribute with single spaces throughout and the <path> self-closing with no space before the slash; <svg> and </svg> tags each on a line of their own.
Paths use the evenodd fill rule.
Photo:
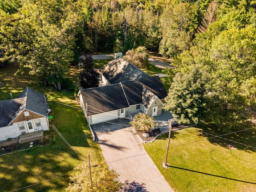
<svg viewBox="0 0 256 192">
<path fill-rule="evenodd" d="M 256 152 L 256 129 L 252 128 L 245 131 L 234 130 L 236 133 L 226 133 L 217 129 L 214 124 L 201 124 L 195 126 L 202 129 L 199 136 L 208 138 L 214 144 L 225 148 L 244 150 L 246 152 Z M 244 128 L 246 129 L 246 128 Z"/>
</svg>

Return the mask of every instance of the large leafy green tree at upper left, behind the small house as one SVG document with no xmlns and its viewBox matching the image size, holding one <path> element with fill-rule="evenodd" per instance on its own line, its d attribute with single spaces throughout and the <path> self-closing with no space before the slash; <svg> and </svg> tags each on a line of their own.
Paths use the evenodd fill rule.
<svg viewBox="0 0 256 192">
<path fill-rule="evenodd" d="M 0 26 L 2 41 L 12 50 L 12 58 L 18 59 L 19 71 L 30 68 L 30 74 L 61 89 L 73 60 L 79 7 L 78 2 L 72 0 L 22 1 L 17 20 L 12 25 Z"/>
</svg>

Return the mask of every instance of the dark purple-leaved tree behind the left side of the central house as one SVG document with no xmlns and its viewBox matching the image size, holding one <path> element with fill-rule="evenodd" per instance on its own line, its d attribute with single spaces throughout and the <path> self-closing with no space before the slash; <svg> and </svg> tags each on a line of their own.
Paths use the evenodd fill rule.
<svg viewBox="0 0 256 192">
<path fill-rule="evenodd" d="M 79 83 L 84 88 L 92 88 L 99 86 L 99 74 L 93 68 L 93 59 L 91 56 L 82 58 L 83 70 L 80 72 Z"/>
</svg>

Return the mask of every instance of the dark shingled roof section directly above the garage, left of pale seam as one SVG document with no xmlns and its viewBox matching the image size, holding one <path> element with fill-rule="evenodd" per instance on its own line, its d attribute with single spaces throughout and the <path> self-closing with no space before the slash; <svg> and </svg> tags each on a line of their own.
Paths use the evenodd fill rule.
<svg viewBox="0 0 256 192">
<path fill-rule="evenodd" d="M 87 116 L 129 107 L 121 84 L 81 90 Z"/>
</svg>

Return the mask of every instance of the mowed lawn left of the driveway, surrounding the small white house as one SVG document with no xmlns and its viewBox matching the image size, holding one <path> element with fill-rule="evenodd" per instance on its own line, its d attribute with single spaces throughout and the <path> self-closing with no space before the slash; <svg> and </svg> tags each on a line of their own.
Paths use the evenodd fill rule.
<svg viewBox="0 0 256 192">
<path fill-rule="evenodd" d="M 99 145 L 92 141 L 83 111 L 60 104 L 80 108 L 75 102 L 74 92 L 45 87 L 36 77 L 28 74 L 14 76 L 16 70 L 17 65 L 0 69 L 0 82 L 4 83 L 0 86 L 0 100 L 10 99 L 10 92 L 15 98 L 26 86 L 46 94 L 52 109 L 51 123 L 85 162 L 88 162 L 90 154 L 91 164 L 104 164 Z M 70 76 L 74 83 L 78 81 L 77 70 L 78 66 L 71 67 Z M 0 191 L 8 192 L 33 185 L 19 191 L 63 192 L 68 186 L 68 177 L 75 174 L 73 168 L 81 162 L 82 159 L 54 132 L 50 145 L 0 156 Z"/>
</svg>

